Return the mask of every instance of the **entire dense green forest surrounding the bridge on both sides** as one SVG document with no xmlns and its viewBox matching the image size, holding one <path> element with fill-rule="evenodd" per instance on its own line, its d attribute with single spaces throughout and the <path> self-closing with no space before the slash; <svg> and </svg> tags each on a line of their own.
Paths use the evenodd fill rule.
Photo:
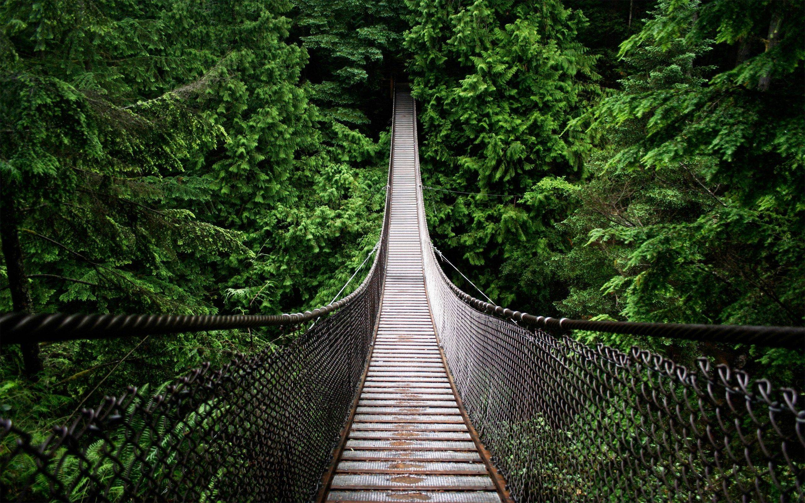
<svg viewBox="0 0 805 503">
<path fill-rule="evenodd" d="M 495 303 L 805 322 L 803 2 L 8 0 L 0 25 L 0 312 L 330 302 L 378 241 L 410 82 L 431 237 Z M 805 375 L 786 349 L 576 336 Z M 3 346 L 0 414 L 44 431 L 281 344 Z"/>
</svg>

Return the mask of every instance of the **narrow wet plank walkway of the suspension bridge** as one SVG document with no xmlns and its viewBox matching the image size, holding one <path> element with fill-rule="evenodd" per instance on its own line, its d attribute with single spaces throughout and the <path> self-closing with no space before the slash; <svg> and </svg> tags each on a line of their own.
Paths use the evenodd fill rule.
<svg viewBox="0 0 805 503">
<path fill-rule="evenodd" d="M 399 90 L 395 100 L 389 254 L 378 333 L 326 499 L 497 503 L 506 495 L 490 476 L 434 332 L 417 212 L 414 101 Z"/>
</svg>

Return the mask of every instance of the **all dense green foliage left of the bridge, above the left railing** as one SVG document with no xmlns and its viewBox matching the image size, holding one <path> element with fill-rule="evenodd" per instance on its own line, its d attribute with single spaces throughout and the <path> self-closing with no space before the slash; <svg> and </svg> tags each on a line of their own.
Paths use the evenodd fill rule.
<svg viewBox="0 0 805 503">
<path fill-rule="evenodd" d="M 275 314 L 332 299 L 378 237 L 388 118 L 358 131 L 316 105 L 291 12 L 257 0 L 2 6 L 3 238 L 19 236 L 31 297 L 13 305 L 6 287 L 3 311 Z M 387 85 L 370 89 L 388 102 Z M 43 345 L 35 385 L 6 348 L 5 415 L 68 415 L 101 383 L 90 402 L 270 338 Z"/>
</svg>

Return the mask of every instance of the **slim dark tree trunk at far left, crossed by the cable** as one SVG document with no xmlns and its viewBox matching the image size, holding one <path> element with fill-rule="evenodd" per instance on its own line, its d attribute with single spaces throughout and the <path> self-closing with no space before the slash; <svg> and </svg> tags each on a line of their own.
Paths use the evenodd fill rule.
<svg viewBox="0 0 805 503">
<path fill-rule="evenodd" d="M 17 230 L 19 216 L 14 208 L 14 199 L 8 192 L 2 194 L 0 212 L 2 212 L 0 214 L 0 241 L 2 241 L 3 257 L 6 258 L 11 305 L 14 311 L 30 313 L 33 311 L 33 303 L 25 277 L 23 248 L 19 245 L 19 231 Z M 39 343 L 25 342 L 20 344 L 20 349 L 23 352 L 25 373 L 31 380 L 37 380 L 36 374 L 43 369 L 42 360 L 39 358 Z"/>
</svg>

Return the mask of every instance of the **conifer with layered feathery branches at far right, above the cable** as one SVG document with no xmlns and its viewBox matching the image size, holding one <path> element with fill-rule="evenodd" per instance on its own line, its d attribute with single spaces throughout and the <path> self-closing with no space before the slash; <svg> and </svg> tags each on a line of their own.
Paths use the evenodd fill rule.
<svg viewBox="0 0 805 503">
<path fill-rule="evenodd" d="M 623 91 L 590 112 L 595 176 L 531 195 L 579 204 L 562 225 L 575 245 L 555 260 L 572 285 L 563 315 L 803 324 L 803 14 L 792 2 L 659 2 L 625 41 Z M 745 365 L 745 349 L 715 354 Z M 782 350 L 759 354 L 798 368 Z"/>
</svg>

